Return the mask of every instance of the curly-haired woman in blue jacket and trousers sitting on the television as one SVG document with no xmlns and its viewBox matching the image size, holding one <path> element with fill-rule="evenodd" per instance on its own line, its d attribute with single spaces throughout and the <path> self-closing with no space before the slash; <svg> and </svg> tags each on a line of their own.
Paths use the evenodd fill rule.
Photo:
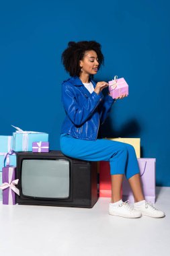
<svg viewBox="0 0 170 256">
<path fill-rule="evenodd" d="M 107 82 L 95 83 L 93 80 L 93 75 L 103 64 L 101 45 L 95 41 L 69 42 L 62 53 L 62 63 L 71 75 L 62 83 L 62 103 L 66 113 L 60 135 L 63 154 L 81 160 L 110 162 L 110 214 L 126 218 L 165 216 L 164 212 L 144 200 L 134 148 L 126 143 L 97 137 L 99 126 L 105 121 L 116 100 L 110 94 L 103 96 L 102 90 L 108 87 Z M 134 207 L 121 198 L 124 174 L 132 188 Z"/>
</svg>

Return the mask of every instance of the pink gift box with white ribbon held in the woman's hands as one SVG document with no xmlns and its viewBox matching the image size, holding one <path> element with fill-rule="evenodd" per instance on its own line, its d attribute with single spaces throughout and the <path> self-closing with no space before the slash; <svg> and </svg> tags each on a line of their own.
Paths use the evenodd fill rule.
<svg viewBox="0 0 170 256">
<path fill-rule="evenodd" d="M 128 95 L 128 84 L 123 77 L 118 79 L 115 75 L 114 79 L 109 81 L 109 91 L 112 98 L 118 98 L 123 94 Z"/>
</svg>

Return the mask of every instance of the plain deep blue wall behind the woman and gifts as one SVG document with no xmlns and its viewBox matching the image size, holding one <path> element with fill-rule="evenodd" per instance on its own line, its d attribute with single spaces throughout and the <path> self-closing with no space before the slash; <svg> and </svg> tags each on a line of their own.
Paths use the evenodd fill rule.
<svg viewBox="0 0 170 256">
<path fill-rule="evenodd" d="M 169 1 L 1 1 L 0 134 L 15 125 L 50 135 L 58 150 L 65 111 L 60 61 L 70 40 L 101 43 L 105 65 L 95 76 L 124 77 L 130 94 L 105 123 L 108 137 L 140 137 L 142 157 L 157 158 L 157 185 L 170 186 Z M 108 125 L 110 125 L 108 128 Z"/>
</svg>

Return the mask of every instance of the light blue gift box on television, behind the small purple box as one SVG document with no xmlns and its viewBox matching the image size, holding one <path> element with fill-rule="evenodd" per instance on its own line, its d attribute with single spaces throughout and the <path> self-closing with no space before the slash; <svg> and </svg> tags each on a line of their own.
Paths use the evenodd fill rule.
<svg viewBox="0 0 170 256">
<path fill-rule="evenodd" d="M 32 152 L 32 142 L 48 142 L 48 133 L 38 131 L 23 131 L 15 127 L 17 131 L 13 133 L 13 150 L 15 152 Z"/>
</svg>

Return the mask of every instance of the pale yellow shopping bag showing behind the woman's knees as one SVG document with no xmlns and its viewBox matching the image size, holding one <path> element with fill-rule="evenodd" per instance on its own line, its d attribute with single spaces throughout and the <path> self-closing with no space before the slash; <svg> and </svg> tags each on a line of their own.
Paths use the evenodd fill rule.
<svg viewBox="0 0 170 256">
<path fill-rule="evenodd" d="M 114 141 L 120 141 L 124 143 L 128 143 L 134 147 L 134 150 L 136 152 L 136 157 L 140 158 L 140 138 L 105 138 L 110 139 Z"/>
</svg>

